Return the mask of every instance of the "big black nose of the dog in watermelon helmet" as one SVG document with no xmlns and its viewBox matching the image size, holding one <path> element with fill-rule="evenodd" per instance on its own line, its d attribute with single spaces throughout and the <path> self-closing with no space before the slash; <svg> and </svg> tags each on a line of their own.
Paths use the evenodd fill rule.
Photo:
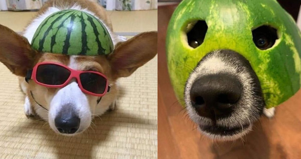
<svg viewBox="0 0 301 159">
<path fill-rule="evenodd" d="M 230 115 L 240 95 L 240 82 L 227 74 L 203 76 L 190 91 L 191 104 L 198 114 L 213 121 Z"/>
</svg>

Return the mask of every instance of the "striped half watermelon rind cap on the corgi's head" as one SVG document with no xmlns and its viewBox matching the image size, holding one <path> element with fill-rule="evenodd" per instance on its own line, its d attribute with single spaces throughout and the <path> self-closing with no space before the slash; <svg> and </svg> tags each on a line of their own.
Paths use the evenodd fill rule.
<svg viewBox="0 0 301 159">
<path fill-rule="evenodd" d="M 80 10 L 61 10 L 48 16 L 36 30 L 33 49 L 67 55 L 101 55 L 113 51 L 104 24 Z"/>
</svg>

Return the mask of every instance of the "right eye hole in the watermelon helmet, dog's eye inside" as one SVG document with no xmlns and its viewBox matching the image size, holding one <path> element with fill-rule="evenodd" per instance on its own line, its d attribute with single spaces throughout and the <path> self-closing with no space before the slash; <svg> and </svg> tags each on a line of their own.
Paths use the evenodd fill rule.
<svg viewBox="0 0 301 159">
<path fill-rule="evenodd" d="M 263 25 L 252 31 L 253 42 L 260 50 L 266 50 L 274 46 L 275 41 L 278 39 L 277 29 Z"/>
</svg>

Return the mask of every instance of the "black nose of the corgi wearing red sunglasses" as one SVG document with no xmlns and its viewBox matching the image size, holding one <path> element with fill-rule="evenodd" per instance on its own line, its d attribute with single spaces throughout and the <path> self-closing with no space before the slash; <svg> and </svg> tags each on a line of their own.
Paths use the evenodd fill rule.
<svg viewBox="0 0 301 159">
<path fill-rule="evenodd" d="M 79 128 L 80 119 L 72 113 L 60 113 L 54 119 L 54 125 L 60 133 L 74 134 Z"/>
</svg>

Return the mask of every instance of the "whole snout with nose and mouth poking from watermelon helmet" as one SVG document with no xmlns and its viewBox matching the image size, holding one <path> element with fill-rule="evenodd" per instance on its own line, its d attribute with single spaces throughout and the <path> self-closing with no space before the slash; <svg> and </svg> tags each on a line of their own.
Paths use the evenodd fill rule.
<svg viewBox="0 0 301 159">
<path fill-rule="evenodd" d="M 247 134 L 265 106 L 249 61 L 231 50 L 203 57 L 186 82 L 185 103 L 200 131 L 222 140 Z"/>
</svg>

